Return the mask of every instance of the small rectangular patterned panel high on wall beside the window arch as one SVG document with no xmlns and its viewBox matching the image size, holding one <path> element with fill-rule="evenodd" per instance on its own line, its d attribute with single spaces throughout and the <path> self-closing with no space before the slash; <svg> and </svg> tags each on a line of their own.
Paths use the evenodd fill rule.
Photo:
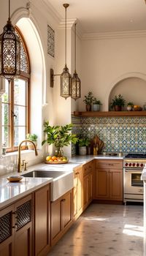
<svg viewBox="0 0 146 256">
<path fill-rule="evenodd" d="M 49 25 L 47 25 L 47 53 L 55 56 L 55 32 Z"/>
</svg>

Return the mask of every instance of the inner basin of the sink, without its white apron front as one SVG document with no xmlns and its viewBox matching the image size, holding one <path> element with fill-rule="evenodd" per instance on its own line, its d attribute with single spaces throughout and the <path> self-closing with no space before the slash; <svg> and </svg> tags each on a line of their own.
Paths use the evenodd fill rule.
<svg viewBox="0 0 146 256">
<path fill-rule="evenodd" d="M 32 178 L 58 178 L 59 176 L 65 174 L 64 171 L 57 170 L 33 170 L 30 173 L 23 174 L 23 177 Z"/>
</svg>

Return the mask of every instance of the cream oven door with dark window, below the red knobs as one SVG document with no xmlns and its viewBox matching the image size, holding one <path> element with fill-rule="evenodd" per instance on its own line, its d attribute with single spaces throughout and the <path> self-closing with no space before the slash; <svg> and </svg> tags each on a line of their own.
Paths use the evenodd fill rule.
<svg viewBox="0 0 146 256">
<path fill-rule="evenodd" d="M 124 193 L 143 195 L 142 170 L 124 169 Z"/>
</svg>

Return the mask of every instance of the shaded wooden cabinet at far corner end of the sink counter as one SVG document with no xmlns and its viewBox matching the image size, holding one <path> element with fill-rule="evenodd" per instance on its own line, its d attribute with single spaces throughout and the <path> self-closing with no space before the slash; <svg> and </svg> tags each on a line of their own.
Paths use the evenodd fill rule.
<svg viewBox="0 0 146 256">
<path fill-rule="evenodd" d="M 83 172 L 83 210 L 87 208 L 87 206 L 93 200 L 94 194 L 94 162 L 88 162 L 87 164 L 82 166 Z"/>
</svg>

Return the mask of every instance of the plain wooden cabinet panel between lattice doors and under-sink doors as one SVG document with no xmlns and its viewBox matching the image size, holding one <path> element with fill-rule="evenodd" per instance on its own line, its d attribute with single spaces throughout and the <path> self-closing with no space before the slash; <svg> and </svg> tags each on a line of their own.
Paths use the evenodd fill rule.
<svg viewBox="0 0 146 256">
<path fill-rule="evenodd" d="M 34 192 L 34 255 L 50 249 L 50 185 Z"/>
</svg>

